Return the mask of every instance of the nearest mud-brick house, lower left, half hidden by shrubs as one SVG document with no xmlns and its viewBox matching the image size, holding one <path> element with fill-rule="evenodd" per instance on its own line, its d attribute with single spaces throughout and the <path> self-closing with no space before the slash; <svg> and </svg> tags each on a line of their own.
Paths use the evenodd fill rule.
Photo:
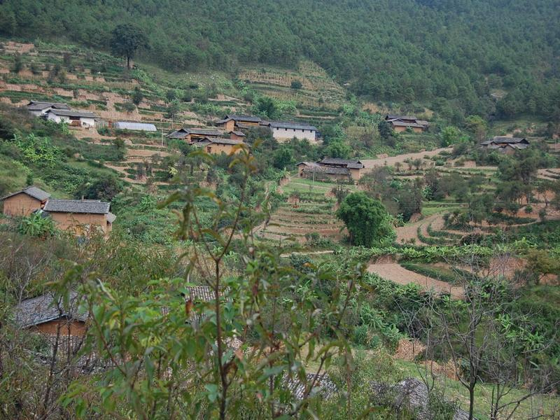
<svg viewBox="0 0 560 420">
<path fill-rule="evenodd" d="M 71 292 L 66 306 L 62 298 L 47 293 L 22 300 L 15 308 L 15 323 L 22 329 L 45 335 L 56 335 L 59 332 L 59 335 L 82 337 L 85 334 L 88 312 L 79 306 L 80 297 L 76 292 Z"/>
</svg>

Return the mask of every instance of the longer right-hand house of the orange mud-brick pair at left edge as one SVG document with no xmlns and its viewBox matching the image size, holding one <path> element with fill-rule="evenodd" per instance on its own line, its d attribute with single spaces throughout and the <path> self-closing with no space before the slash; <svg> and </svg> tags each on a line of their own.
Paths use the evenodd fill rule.
<svg viewBox="0 0 560 420">
<path fill-rule="evenodd" d="M 110 207 L 111 203 L 100 200 L 48 200 L 43 211 L 61 230 L 81 236 L 97 228 L 107 235 L 116 220 L 116 216 L 109 211 Z"/>
</svg>

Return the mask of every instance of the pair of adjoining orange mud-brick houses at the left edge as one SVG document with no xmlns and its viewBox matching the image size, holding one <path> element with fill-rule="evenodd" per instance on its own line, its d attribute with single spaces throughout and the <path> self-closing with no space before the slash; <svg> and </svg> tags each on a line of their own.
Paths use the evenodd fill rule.
<svg viewBox="0 0 560 420">
<path fill-rule="evenodd" d="M 101 200 L 57 200 L 35 186 L 29 186 L 0 199 L 3 214 L 10 217 L 29 216 L 39 213 L 50 217 L 60 230 L 76 236 L 87 234 L 96 228 L 109 234 L 117 216 L 111 213 L 111 203 Z"/>
</svg>

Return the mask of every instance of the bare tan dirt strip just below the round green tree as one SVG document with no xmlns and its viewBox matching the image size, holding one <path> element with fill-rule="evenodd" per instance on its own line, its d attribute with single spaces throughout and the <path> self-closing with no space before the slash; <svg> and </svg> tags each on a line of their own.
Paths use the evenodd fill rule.
<svg viewBox="0 0 560 420">
<path fill-rule="evenodd" d="M 435 290 L 438 293 L 449 293 L 454 299 L 461 299 L 463 297 L 463 288 L 451 286 L 445 281 L 435 280 L 428 276 L 409 271 L 394 262 L 372 264 L 367 267 L 367 271 L 398 284 L 406 285 L 409 283 L 416 283 L 423 290 Z"/>
</svg>

